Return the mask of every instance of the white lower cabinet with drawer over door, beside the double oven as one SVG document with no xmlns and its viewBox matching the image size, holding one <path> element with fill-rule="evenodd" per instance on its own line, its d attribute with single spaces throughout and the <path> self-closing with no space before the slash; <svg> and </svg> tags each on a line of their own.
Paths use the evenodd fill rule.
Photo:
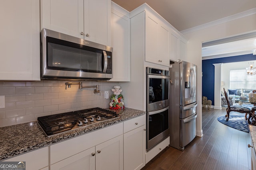
<svg viewBox="0 0 256 170">
<path fill-rule="evenodd" d="M 146 115 L 124 122 L 124 170 L 145 166 Z"/>
</svg>

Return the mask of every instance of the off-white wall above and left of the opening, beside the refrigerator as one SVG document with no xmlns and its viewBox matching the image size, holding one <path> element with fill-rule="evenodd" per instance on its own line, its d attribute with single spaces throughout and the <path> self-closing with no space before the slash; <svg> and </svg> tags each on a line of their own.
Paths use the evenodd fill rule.
<svg viewBox="0 0 256 170">
<path fill-rule="evenodd" d="M 256 14 L 216 24 L 193 32 L 183 32 L 188 39 L 187 61 L 198 66 L 198 121 L 197 135 L 202 136 L 202 42 L 256 31 Z"/>
</svg>

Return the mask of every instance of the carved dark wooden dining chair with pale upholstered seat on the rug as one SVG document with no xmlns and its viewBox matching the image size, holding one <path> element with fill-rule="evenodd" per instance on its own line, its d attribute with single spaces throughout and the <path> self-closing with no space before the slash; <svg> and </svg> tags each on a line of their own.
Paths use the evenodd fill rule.
<svg viewBox="0 0 256 170">
<path fill-rule="evenodd" d="M 226 98 L 227 104 L 228 104 L 228 107 L 226 109 L 226 111 L 227 111 L 227 115 L 226 115 L 227 119 L 226 119 L 226 121 L 228 121 L 228 119 L 229 119 L 229 113 L 231 111 L 236 111 L 236 112 L 239 112 L 239 113 L 245 113 L 245 119 L 248 121 L 248 124 L 251 124 L 251 122 L 250 122 L 250 118 L 252 117 L 251 107 L 246 107 L 246 106 L 242 106 L 242 105 L 241 106 L 240 105 L 230 106 L 230 101 L 228 99 L 228 94 L 227 94 L 225 88 L 223 88 L 223 90 L 224 90 L 224 95 L 225 95 L 225 98 Z M 255 107 L 255 109 L 256 109 L 256 107 Z M 248 119 L 247 119 L 247 114 L 249 114 L 249 118 Z"/>
</svg>

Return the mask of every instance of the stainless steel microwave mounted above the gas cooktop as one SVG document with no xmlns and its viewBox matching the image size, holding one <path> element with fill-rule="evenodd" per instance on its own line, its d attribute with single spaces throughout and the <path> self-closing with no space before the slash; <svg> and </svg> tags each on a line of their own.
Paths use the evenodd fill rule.
<svg viewBox="0 0 256 170">
<path fill-rule="evenodd" d="M 113 48 L 43 28 L 41 78 L 110 80 Z"/>
</svg>

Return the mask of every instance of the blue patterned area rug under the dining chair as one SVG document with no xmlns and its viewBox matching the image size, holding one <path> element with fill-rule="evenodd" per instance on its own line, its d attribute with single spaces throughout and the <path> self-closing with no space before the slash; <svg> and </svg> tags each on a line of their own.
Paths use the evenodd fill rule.
<svg viewBox="0 0 256 170">
<path fill-rule="evenodd" d="M 225 115 L 219 116 L 217 119 L 224 125 L 249 133 L 248 122 L 245 120 L 244 115 L 230 115 L 228 121 L 226 121 Z"/>
</svg>

